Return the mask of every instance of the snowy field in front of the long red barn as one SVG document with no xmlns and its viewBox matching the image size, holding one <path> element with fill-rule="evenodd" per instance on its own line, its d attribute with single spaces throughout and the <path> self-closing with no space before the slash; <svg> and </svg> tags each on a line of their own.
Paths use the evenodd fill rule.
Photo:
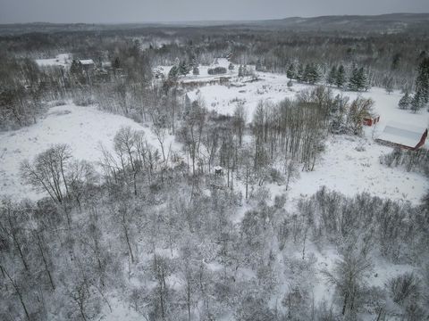
<svg viewBox="0 0 429 321">
<path fill-rule="evenodd" d="M 349 196 L 367 192 L 382 198 L 419 203 L 429 189 L 429 182 L 420 174 L 380 164 L 379 157 L 389 152 L 391 147 L 371 139 L 332 136 L 315 170 L 301 172 L 299 180 L 290 185 L 289 197 L 311 195 L 325 185 Z"/>
</svg>

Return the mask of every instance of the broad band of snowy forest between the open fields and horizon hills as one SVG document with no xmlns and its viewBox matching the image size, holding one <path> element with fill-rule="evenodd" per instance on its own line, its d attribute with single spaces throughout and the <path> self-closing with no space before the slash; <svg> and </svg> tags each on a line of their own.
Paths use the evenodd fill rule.
<svg viewBox="0 0 429 321">
<path fill-rule="evenodd" d="M 228 57 L 240 66 L 256 64 L 257 70 L 283 72 L 309 84 L 326 82 L 357 91 L 369 86 L 384 86 L 388 92 L 393 88 L 408 93 L 416 90 L 418 95 L 412 105 L 421 107 L 427 103 L 427 40 L 422 35 L 339 37 L 334 32 L 250 33 L 220 27 L 206 29 L 206 33 L 192 28 L 178 29 L 173 35 L 170 31 L 122 29 L 101 34 L 63 32 L 1 37 L 0 127 L 28 125 L 43 112 L 46 101 L 53 99 L 73 98 L 80 104 L 99 101 L 102 108 L 124 110 L 125 114 L 144 109 L 147 114 L 154 104 L 147 101 L 158 95 L 151 88 L 154 67 L 175 65 L 172 76 L 190 70 L 198 74 L 198 64 L 210 64 L 216 57 Z M 118 38 L 118 34 L 123 37 Z M 54 50 L 55 41 L 58 43 Z M 39 68 L 32 61 L 67 52 L 75 58 L 72 68 Z M 90 72 L 79 63 L 80 59 L 89 58 L 95 62 L 95 70 Z M 175 86 L 172 80 L 161 84 L 165 94 Z M 139 116 L 142 117 L 147 116 Z"/>
</svg>

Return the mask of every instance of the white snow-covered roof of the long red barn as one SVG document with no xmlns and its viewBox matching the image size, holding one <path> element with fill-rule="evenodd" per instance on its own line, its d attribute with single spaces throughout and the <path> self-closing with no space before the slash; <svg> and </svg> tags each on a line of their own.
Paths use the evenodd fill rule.
<svg viewBox="0 0 429 321">
<path fill-rule="evenodd" d="M 415 147 L 425 133 L 425 130 L 426 128 L 391 121 L 387 123 L 383 133 L 378 136 L 378 139 L 394 144 Z"/>
</svg>

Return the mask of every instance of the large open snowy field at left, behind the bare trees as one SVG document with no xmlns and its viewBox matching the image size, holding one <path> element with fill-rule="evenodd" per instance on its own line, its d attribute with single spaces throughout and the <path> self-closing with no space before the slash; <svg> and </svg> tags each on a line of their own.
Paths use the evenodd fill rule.
<svg viewBox="0 0 429 321">
<path fill-rule="evenodd" d="M 115 133 L 126 126 L 144 131 L 147 141 L 159 148 L 150 128 L 94 106 L 79 107 L 72 103 L 51 108 L 46 118 L 28 128 L 0 133 L 0 195 L 17 200 L 40 198 L 42 195 L 21 183 L 21 161 L 32 160 L 53 144 L 69 144 L 73 157 L 97 163 L 102 156 L 100 144 L 112 151 Z M 167 136 L 164 141 L 167 150 L 172 143 L 173 137 Z"/>
</svg>

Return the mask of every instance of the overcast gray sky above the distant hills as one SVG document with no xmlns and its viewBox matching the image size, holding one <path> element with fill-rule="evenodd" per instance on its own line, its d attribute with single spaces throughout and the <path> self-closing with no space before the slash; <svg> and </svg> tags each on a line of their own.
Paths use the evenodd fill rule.
<svg viewBox="0 0 429 321">
<path fill-rule="evenodd" d="M 0 23 L 260 20 L 429 12 L 429 0 L 0 0 Z"/>
</svg>

